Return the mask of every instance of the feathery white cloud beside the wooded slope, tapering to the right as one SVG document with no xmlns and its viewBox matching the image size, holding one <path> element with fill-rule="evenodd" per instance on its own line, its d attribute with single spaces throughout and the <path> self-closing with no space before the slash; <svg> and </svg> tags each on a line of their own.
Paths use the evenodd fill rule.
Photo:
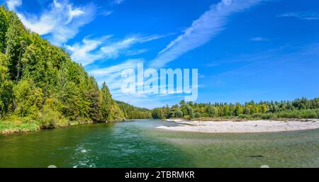
<svg viewBox="0 0 319 182">
<path fill-rule="evenodd" d="M 164 35 L 132 35 L 117 42 L 111 41 L 112 35 L 102 38 L 84 38 L 81 43 L 67 45 L 67 50 L 71 52 L 71 57 L 75 62 L 83 66 L 94 63 L 99 59 L 116 59 L 120 55 L 138 55 L 147 51 L 145 49 L 129 50 L 135 44 L 149 42 L 162 38 Z"/>
</svg>

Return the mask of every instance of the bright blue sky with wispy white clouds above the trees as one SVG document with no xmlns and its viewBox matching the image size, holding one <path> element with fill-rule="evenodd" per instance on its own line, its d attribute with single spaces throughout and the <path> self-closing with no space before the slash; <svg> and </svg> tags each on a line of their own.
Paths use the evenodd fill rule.
<svg viewBox="0 0 319 182">
<path fill-rule="evenodd" d="M 317 0 L 0 0 L 26 27 L 64 47 L 113 97 L 172 105 L 178 94 L 121 93 L 121 71 L 198 69 L 196 102 L 318 97 Z"/>
</svg>

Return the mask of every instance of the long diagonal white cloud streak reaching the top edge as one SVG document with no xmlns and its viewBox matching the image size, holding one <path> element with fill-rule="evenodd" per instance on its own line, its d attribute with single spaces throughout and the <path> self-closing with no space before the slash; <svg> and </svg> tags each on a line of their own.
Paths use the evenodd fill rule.
<svg viewBox="0 0 319 182">
<path fill-rule="evenodd" d="M 228 16 L 244 11 L 263 0 L 222 0 L 203 13 L 182 35 L 159 52 L 150 67 L 162 67 L 190 50 L 204 45 L 225 28 Z"/>
</svg>

